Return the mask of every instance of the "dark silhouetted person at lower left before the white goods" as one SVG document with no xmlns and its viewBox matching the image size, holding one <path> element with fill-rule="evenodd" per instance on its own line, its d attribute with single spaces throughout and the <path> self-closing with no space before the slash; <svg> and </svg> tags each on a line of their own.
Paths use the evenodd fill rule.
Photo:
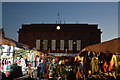
<svg viewBox="0 0 120 80">
<path fill-rule="evenodd" d="M 10 73 L 8 74 L 8 80 L 13 78 L 22 77 L 22 69 L 21 66 L 18 66 L 17 63 L 13 63 L 11 65 Z"/>
</svg>

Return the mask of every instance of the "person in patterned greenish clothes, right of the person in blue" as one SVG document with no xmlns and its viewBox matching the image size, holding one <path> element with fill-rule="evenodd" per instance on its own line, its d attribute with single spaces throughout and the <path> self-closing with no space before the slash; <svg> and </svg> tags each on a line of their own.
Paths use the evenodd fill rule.
<svg viewBox="0 0 120 80">
<path fill-rule="evenodd" d="M 52 59 L 52 62 L 49 65 L 49 79 L 50 80 L 56 80 L 58 77 L 57 74 L 57 63 L 56 63 L 56 59 Z"/>
</svg>

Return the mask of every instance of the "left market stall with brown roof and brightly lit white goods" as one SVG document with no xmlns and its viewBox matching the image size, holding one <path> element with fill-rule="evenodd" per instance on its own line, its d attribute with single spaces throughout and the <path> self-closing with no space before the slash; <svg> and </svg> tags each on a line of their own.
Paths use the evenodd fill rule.
<svg viewBox="0 0 120 80">
<path fill-rule="evenodd" d="M 36 70 L 36 54 L 37 50 L 35 48 L 30 49 L 29 46 L 0 34 L 0 71 L 4 72 L 6 76 L 11 70 L 10 66 L 15 63 L 22 68 L 24 75 L 27 74 L 28 66 L 32 70 Z"/>
</svg>

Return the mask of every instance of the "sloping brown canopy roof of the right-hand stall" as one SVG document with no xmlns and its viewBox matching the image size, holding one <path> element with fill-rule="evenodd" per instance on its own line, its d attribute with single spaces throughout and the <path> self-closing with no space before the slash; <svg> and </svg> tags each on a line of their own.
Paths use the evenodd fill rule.
<svg viewBox="0 0 120 80">
<path fill-rule="evenodd" d="M 83 51 L 93 51 L 93 52 L 110 52 L 110 53 L 118 53 L 120 54 L 120 37 L 115 38 L 109 41 L 105 41 L 102 43 L 98 43 L 95 45 L 87 46 L 84 49 L 81 50 Z"/>
</svg>

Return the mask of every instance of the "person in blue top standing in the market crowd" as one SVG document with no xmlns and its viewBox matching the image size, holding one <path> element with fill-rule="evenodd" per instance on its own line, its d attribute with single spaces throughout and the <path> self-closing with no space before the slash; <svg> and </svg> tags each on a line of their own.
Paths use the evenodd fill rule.
<svg viewBox="0 0 120 80">
<path fill-rule="evenodd" d="M 45 72 L 46 72 L 46 63 L 45 59 L 41 59 L 41 61 L 38 63 L 38 66 L 40 67 L 40 78 L 45 78 Z"/>
</svg>

